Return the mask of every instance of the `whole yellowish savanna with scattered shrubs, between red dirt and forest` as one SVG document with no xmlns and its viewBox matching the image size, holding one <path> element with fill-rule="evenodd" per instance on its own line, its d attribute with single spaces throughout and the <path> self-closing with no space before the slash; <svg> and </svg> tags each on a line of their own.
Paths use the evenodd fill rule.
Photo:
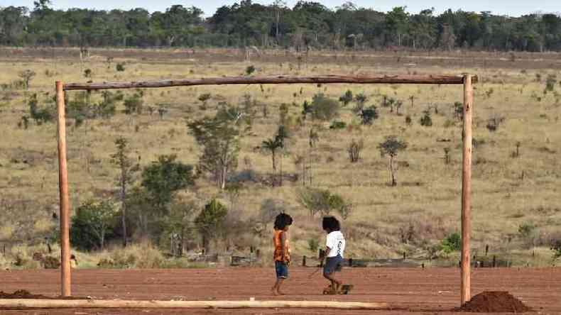
<svg viewBox="0 0 561 315">
<path fill-rule="evenodd" d="M 516 62 L 511 53 L 443 53 L 442 60 L 469 58 L 452 65 L 418 52 L 266 57 L 283 55 L 271 50 L 252 62 L 239 50 L 204 48 L 99 49 L 81 58 L 77 49 L 52 52 L 41 58 L 41 50 L 0 48 L 3 267 L 53 266 L 40 255 L 58 255 L 55 79 L 279 73 L 479 74 L 472 250 L 514 265 L 559 263 L 561 72 L 554 53 L 516 53 Z M 342 219 L 349 256 L 405 253 L 427 265 L 457 263 L 461 87 L 255 85 L 66 97 L 80 267 L 196 267 L 216 253 L 251 251 L 268 263 L 280 211 L 295 218 L 295 257 L 316 255 L 320 216 L 331 214 Z"/>
</svg>

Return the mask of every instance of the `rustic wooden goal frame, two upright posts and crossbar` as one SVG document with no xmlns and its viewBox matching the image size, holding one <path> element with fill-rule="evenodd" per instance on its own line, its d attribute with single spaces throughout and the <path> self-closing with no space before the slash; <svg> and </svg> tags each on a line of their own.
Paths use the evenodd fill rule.
<svg viewBox="0 0 561 315">
<path fill-rule="evenodd" d="M 65 91 L 99 89 L 134 89 L 156 87 L 188 87 L 198 85 L 222 84 L 463 84 L 464 86 L 464 123 L 463 123 L 463 166 L 462 166 L 462 262 L 461 262 L 461 304 L 471 299 L 471 275 L 469 238 L 471 233 L 471 191 L 472 191 L 472 112 L 474 93 L 472 84 L 478 78 L 472 74 L 462 75 L 373 75 L 339 76 L 324 75 L 310 77 L 215 77 L 205 79 L 169 79 L 145 82 L 104 82 L 69 83 L 56 82 L 58 109 L 58 166 L 60 189 L 60 271 L 61 293 L 70 297 L 70 199 L 68 195 L 68 169 L 66 158 L 66 118 Z"/>
</svg>

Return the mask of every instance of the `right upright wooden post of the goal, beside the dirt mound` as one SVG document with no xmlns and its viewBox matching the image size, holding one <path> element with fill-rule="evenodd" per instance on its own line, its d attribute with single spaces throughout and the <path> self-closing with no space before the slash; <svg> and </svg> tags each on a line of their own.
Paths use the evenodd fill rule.
<svg viewBox="0 0 561 315">
<path fill-rule="evenodd" d="M 462 305 L 472 298 L 469 237 L 472 231 L 472 113 L 474 104 L 474 90 L 472 76 L 464 76 L 464 126 L 462 138 L 464 141 L 462 165 Z"/>
</svg>

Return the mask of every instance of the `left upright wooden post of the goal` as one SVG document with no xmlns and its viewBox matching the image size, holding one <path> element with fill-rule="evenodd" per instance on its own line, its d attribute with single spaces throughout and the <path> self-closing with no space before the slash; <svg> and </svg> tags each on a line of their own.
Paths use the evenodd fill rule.
<svg viewBox="0 0 561 315">
<path fill-rule="evenodd" d="M 56 82 L 58 187 L 60 190 L 60 281 L 62 297 L 70 297 L 70 198 L 68 195 L 68 169 L 66 162 L 65 91 L 62 82 Z"/>
</svg>

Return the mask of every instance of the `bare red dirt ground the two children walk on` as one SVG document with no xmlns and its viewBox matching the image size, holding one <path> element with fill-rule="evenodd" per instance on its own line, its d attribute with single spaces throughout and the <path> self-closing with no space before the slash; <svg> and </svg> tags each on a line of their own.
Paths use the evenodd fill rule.
<svg viewBox="0 0 561 315">
<path fill-rule="evenodd" d="M 325 309 L 41 309 L 0 310 L 0 314 L 469 314 L 459 306 L 457 268 L 347 268 L 341 276 L 355 285 L 349 295 L 324 296 L 326 282 L 313 268 L 290 268 L 284 297 L 273 297 L 273 268 L 230 267 L 174 270 L 73 270 L 72 294 L 96 299 L 183 300 L 334 300 L 386 302 L 388 309 L 342 311 Z M 0 290 L 26 289 L 55 296 L 58 270 L 0 272 Z M 561 314 L 561 268 L 485 268 L 472 271 L 472 294 L 508 291 L 536 314 Z M 479 313 L 481 314 L 481 313 Z M 503 313 L 504 314 L 504 313 Z"/>
</svg>

